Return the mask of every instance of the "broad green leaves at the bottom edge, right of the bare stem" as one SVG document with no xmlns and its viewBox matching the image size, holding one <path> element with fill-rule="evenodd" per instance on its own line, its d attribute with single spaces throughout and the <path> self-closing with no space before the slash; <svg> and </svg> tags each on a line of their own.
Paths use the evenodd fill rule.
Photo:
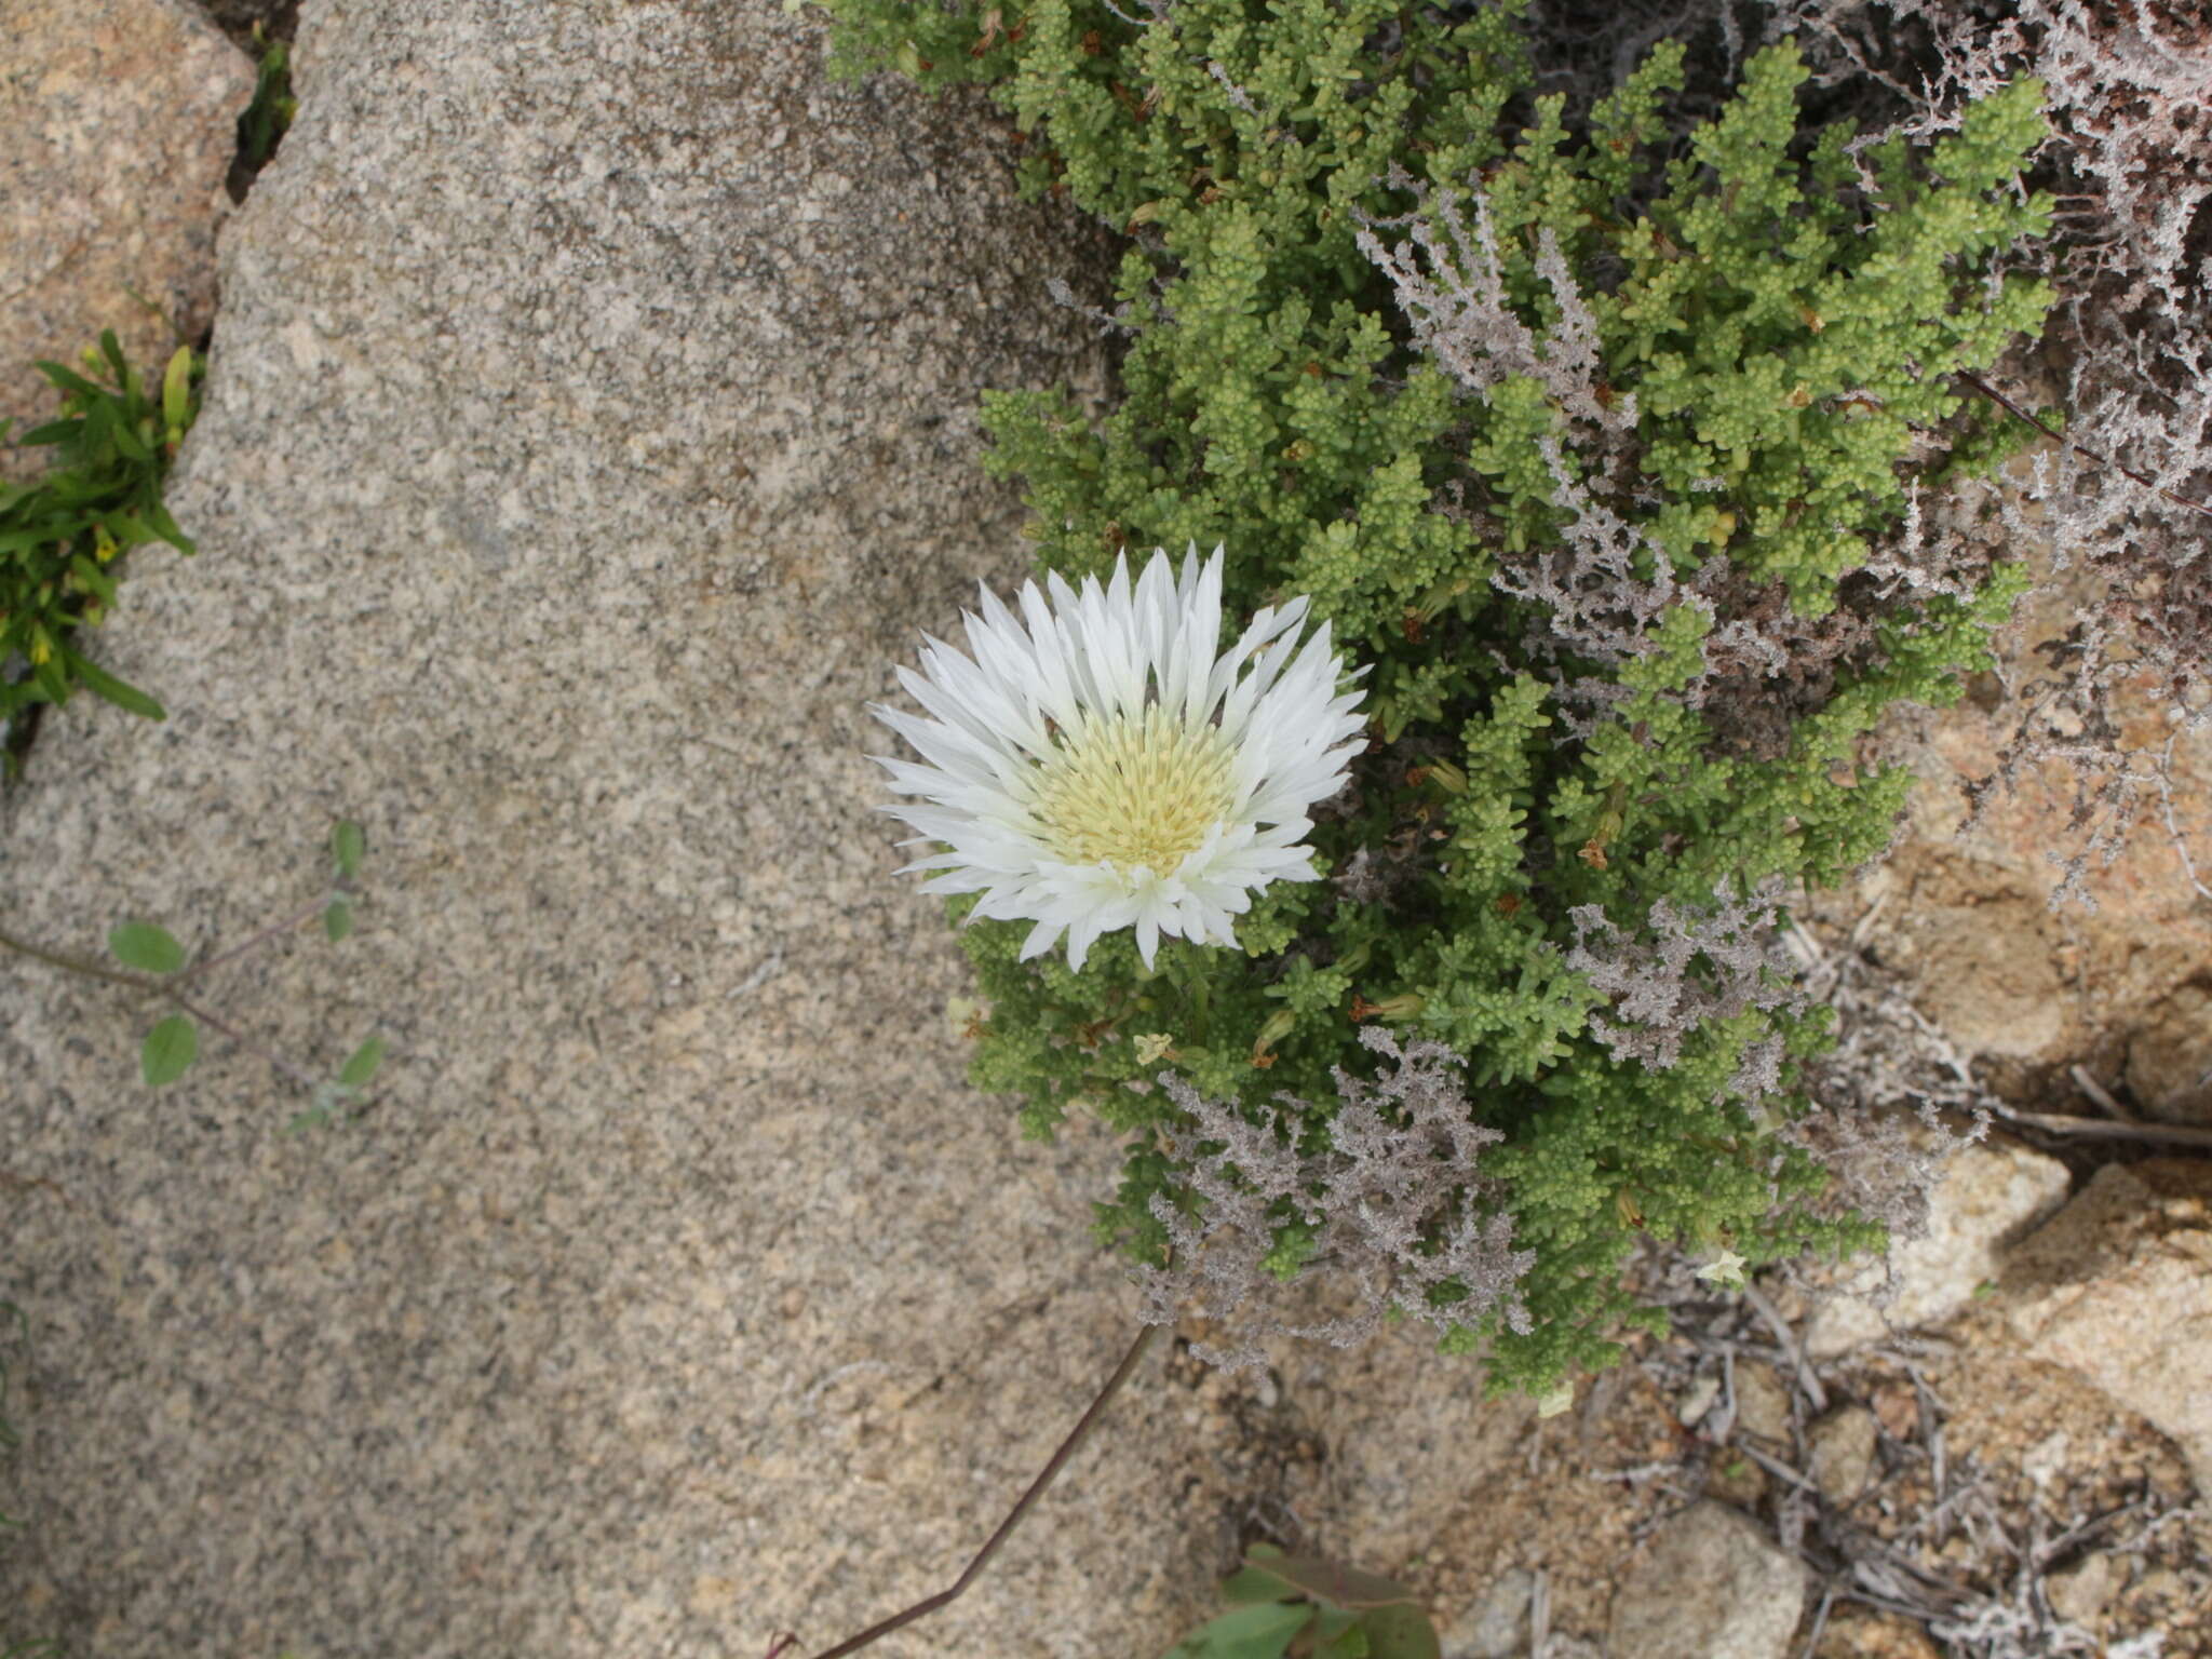
<svg viewBox="0 0 2212 1659">
<path fill-rule="evenodd" d="M 1245 1551 L 1221 1586 L 1230 1610 L 1177 1641 L 1166 1659 L 1438 1659 L 1436 1626 L 1402 1584 L 1285 1555 Z"/>
</svg>

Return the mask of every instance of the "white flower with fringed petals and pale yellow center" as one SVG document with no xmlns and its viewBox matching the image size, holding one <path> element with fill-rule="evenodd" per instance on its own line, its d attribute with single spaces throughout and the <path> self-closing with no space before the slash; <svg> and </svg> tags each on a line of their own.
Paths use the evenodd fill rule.
<svg viewBox="0 0 2212 1659">
<path fill-rule="evenodd" d="M 1181 580 L 1164 551 L 1135 588 L 1128 557 L 1082 593 L 1048 575 L 1015 617 L 989 588 L 967 615 L 973 657 L 925 635 L 898 684 L 931 719 L 872 712 L 925 765 L 876 757 L 927 805 L 885 812 L 940 843 L 905 869 L 931 894 L 982 894 L 975 916 L 1031 920 L 1022 958 L 1068 938 L 1137 929 L 1234 945 L 1232 916 L 1270 880 L 1314 880 L 1305 810 L 1345 783 L 1360 750 L 1358 690 L 1338 692 L 1329 624 L 1298 650 L 1307 602 L 1261 611 L 1221 650 L 1221 549 Z M 900 872 L 905 874 L 905 872 Z"/>
</svg>

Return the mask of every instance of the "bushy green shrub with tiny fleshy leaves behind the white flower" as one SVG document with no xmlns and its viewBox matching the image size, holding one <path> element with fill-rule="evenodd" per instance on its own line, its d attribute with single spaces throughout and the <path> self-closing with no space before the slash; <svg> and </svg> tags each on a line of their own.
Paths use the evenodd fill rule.
<svg viewBox="0 0 2212 1659">
<path fill-rule="evenodd" d="M 1312 595 L 1369 666 L 1327 878 L 1267 889 L 1241 953 L 1168 940 L 1146 973 L 1119 933 L 1071 973 L 1018 960 L 1026 922 L 960 933 L 975 1084 L 1031 1135 L 1082 1110 L 1128 1139 L 1102 1239 L 1157 1270 L 1206 1210 L 1194 1097 L 1327 1148 L 1383 1024 L 1455 1053 L 1500 1135 L 1431 1223 L 1506 1217 L 1526 1252 L 1517 1301 L 1442 1321 L 1491 1389 L 1657 1325 L 1621 1283 L 1641 1239 L 1876 1245 L 1794 1133 L 1825 1011 L 1759 933 L 1882 854 L 1907 774 L 1867 734 L 1953 699 L 2022 588 L 1962 544 L 1913 564 L 1900 524 L 2013 449 L 1951 376 L 2051 305 L 1991 272 L 2048 226 L 2017 181 L 2037 86 L 1860 142 L 1803 126 L 1783 44 L 1679 131 L 1670 44 L 1571 131 L 1515 4 L 830 11 L 845 69 L 987 84 L 1035 139 L 1024 184 L 1128 234 L 1104 420 L 987 398 L 1037 564 L 1221 542 L 1232 613 Z M 1292 1276 L 1312 1225 L 1272 1214 Z"/>
</svg>

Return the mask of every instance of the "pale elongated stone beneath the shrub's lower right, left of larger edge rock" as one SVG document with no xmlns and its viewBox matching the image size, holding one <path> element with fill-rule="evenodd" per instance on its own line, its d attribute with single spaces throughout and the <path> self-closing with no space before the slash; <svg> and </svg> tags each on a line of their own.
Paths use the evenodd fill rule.
<svg viewBox="0 0 2212 1659">
<path fill-rule="evenodd" d="M 1887 1307 L 1876 1301 L 1880 1263 L 1860 1270 L 1847 1281 L 1847 1294 L 1814 1310 L 1805 1327 L 1807 1349 L 1814 1358 L 1832 1358 L 1891 1329 L 1949 1318 L 1997 1276 L 2006 1243 L 2057 1214 L 2066 1186 L 2064 1164 L 2011 1137 L 1991 1135 L 1962 1146 L 1929 1194 L 1927 1232 L 1891 1250 L 1896 1298 Z"/>
</svg>

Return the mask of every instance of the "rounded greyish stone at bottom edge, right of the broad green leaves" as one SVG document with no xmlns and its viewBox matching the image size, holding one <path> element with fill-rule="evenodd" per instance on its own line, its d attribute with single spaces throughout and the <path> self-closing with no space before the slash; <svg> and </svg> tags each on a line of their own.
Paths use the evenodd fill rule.
<svg viewBox="0 0 2212 1659">
<path fill-rule="evenodd" d="M 1756 1522 L 1701 1502 L 1668 1520 L 1613 1601 L 1610 1650 L 1637 1659 L 1781 1659 L 1805 1568 Z"/>
</svg>

